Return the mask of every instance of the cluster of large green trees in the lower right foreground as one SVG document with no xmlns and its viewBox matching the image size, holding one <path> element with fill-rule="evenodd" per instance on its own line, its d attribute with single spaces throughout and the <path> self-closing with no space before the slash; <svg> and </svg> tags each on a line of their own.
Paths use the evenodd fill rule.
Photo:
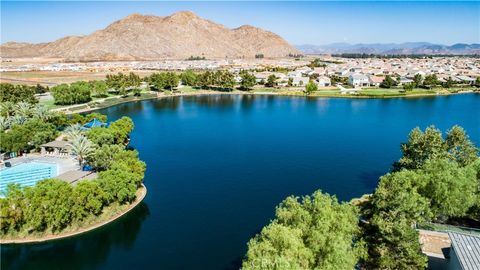
<svg viewBox="0 0 480 270">
<path fill-rule="evenodd" d="M 415 225 L 480 222 L 478 148 L 458 126 L 416 128 L 368 200 L 288 197 L 248 243 L 242 269 L 425 269 Z"/>
</svg>

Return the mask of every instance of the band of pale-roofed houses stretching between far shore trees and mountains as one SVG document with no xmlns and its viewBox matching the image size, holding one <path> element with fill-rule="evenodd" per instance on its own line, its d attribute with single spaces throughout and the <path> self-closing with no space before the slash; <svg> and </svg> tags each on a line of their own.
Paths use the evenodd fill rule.
<svg viewBox="0 0 480 270">
<path fill-rule="evenodd" d="M 312 61 L 321 63 L 312 66 Z M 185 71 L 219 70 L 232 72 L 239 81 L 242 70 L 252 71 L 257 83 L 276 77 L 279 87 L 303 87 L 310 80 L 318 87 L 338 86 L 332 78 L 340 78 L 350 87 L 379 87 L 386 76 L 396 85 L 413 82 L 415 75 L 435 74 L 439 83 L 452 80 L 456 84 L 473 84 L 480 76 L 480 59 L 475 57 L 433 58 L 340 58 L 332 56 L 307 56 L 285 59 L 216 59 L 216 60 L 163 60 L 126 62 L 78 62 L 78 63 L 17 63 L 3 59 L 0 72 L 130 72 L 130 71 Z"/>
</svg>

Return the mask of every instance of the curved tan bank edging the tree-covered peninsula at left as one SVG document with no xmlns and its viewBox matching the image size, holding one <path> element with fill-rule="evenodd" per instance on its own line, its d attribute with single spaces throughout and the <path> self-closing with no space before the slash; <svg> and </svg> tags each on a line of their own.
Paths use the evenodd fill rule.
<svg viewBox="0 0 480 270">
<path fill-rule="evenodd" d="M 6 234 L 2 235 L 0 238 L 0 244 L 27 244 L 27 243 L 40 243 L 51 240 L 58 240 L 68 237 L 77 236 L 83 233 L 87 233 L 103 227 L 120 217 L 124 216 L 136 206 L 138 206 L 145 196 L 147 195 L 147 188 L 142 184 L 142 186 L 137 190 L 136 199 L 130 204 L 113 204 L 105 207 L 103 213 L 99 216 L 92 216 L 91 218 L 86 219 L 82 223 L 75 224 L 63 229 L 59 233 L 53 233 L 51 231 L 37 233 L 37 234 L 27 234 L 21 232 L 19 234 Z"/>
</svg>

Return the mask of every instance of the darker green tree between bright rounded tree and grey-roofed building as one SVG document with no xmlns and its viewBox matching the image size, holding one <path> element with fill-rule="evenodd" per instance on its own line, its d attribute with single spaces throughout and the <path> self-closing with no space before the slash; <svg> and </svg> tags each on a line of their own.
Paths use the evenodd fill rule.
<svg viewBox="0 0 480 270">
<path fill-rule="evenodd" d="M 432 217 L 430 201 L 419 191 L 422 174 L 403 170 L 387 174 L 367 203 L 363 239 L 368 257 L 366 269 L 424 269 L 416 222 Z"/>
</svg>

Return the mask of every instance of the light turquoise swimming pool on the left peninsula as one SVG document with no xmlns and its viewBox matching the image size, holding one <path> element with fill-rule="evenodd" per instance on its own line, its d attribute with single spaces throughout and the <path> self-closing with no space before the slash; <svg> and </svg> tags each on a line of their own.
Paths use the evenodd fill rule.
<svg viewBox="0 0 480 270">
<path fill-rule="evenodd" d="M 8 184 L 18 183 L 22 186 L 33 186 L 42 179 L 58 175 L 57 164 L 40 161 L 20 163 L 0 170 L 0 192 L 7 189 Z"/>
</svg>

